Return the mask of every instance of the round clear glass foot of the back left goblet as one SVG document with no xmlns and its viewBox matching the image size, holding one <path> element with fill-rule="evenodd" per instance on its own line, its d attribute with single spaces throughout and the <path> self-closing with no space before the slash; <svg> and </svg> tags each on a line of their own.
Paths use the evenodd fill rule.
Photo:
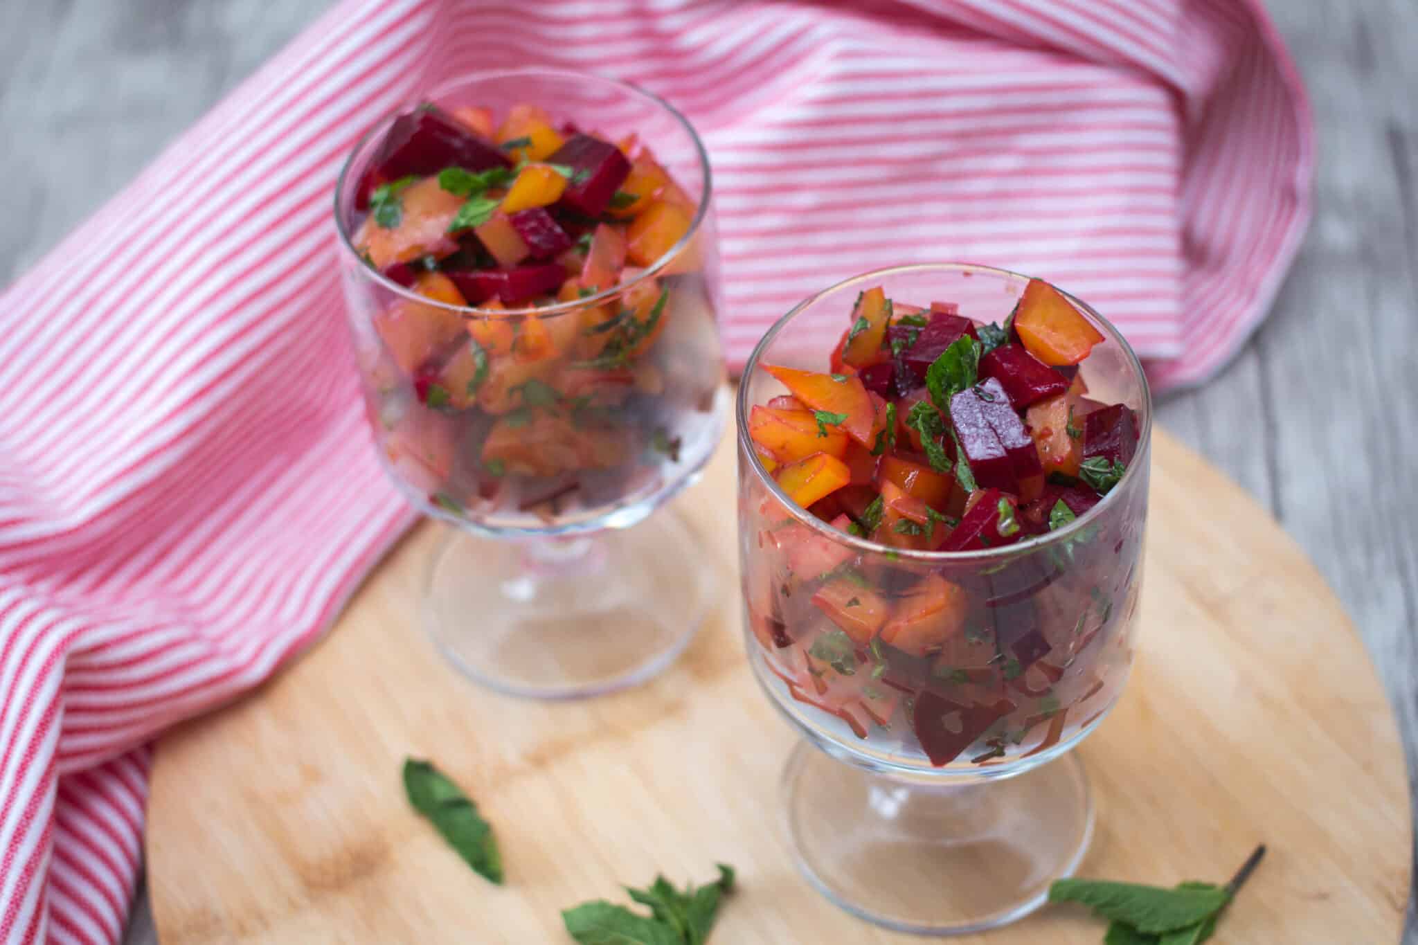
<svg viewBox="0 0 1418 945">
<path fill-rule="evenodd" d="M 669 509 L 571 538 L 506 541 L 448 530 L 424 625 L 465 676 L 510 696 L 580 698 L 669 666 L 710 601 L 703 547 Z"/>
</svg>

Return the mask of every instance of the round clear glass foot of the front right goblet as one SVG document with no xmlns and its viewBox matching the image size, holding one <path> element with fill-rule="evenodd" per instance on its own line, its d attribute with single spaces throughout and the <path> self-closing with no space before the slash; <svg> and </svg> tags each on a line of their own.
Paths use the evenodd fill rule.
<svg viewBox="0 0 1418 945">
<path fill-rule="evenodd" d="M 1073 755 L 1015 778 L 902 781 L 800 744 L 783 774 L 798 868 L 837 905 L 902 932 L 956 935 L 1022 918 L 1093 833 Z"/>
</svg>

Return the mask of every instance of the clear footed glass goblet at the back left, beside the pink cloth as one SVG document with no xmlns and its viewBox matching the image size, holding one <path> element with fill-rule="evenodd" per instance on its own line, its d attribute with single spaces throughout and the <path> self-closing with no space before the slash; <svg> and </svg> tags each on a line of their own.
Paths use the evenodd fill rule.
<svg viewBox="0 0 1418 945">
<path fill-rule="evenodd" d="M 421 102 L 495 113 L 530 103 L 613 142 L 637 135 L 695 201 L 689 231 L 620 285 L 556 305 L 418 295 L 352 239 L 366 167 L 396 118 Z M 729 414 L 709 160 L 693 128 L 604 77 L 468 75 L 364 136 L 340 174 L 335 217 L 374 446 L 408 502 L 450 526 L 424 594 L 438 647 L 486 686 L 543 698 L 605 693 L 668 666 L 709 605 L 710 575 L 676 514 L 649 516 L 698 477 Z M 659 306 L 658 333 L 615 364 L 598 357 L 603 336 L 587 326 L 647 302 Z M 532 337 L 552 337 L 563 354 L 529 357 Z M 437 407 L 430 384 L 445 391 Z"/>
</svg>

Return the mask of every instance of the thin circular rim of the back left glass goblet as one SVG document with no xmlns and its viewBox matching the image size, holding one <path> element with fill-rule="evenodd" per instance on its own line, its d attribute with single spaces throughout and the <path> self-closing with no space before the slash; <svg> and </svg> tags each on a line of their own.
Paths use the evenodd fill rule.
<svg viewBox="0 0 1418 945">
<path fill-rule="evenodd" d="M 360 256 L 359 251 L 354 249 L 354 241 L 350 237 L 349 227 L 346 225 L 346 221 L 345 221 L 345 218 L 340 214 L 340 205 L 343 203 L 345 190 L 350 184 L 349 177 L 350 177 L 350 170 L 352 170 L 352 167 L 354 164 L 356 154 L 359 154 L 364 149 L 364 146 L 370 142 L 370 139 L 373 139 L 381 130 L 386 130 L 394 122 L 394 119 L 397 119 L 400 115 L 403 115 L 404 112 L 407 112 L 410 108 L 417 108 L 423 102 L 432 101 L 441 92 L 451 91 L 454 86 L 467 85 L 469 82 L 476 82 L 476 81 L 516 78 L 516 77 L 537 77 L 537 75 L 539 77 L 552 77 L 552 78 L 564 78 L 564 79 L 580 79 L 580 81 L 593 79 L 596 82 L 603 82 L 605 85 L 618 88 L 623 92 L 628 92 L 632 96 L 638 96 L 641 99 L 649 101 L 654 105 L 658 105 L 661 109 L 664 109 L 665 112 L 668 112 L 672 119 L 675 119 L 675 122 L 689 135 L 691 143 L 693 143 L 695 156 L 699 160 L 699 169 L 700 169 L 702 186 L 703 186 L 703 196 L 699 198 L 699 205 L 695 208 L 693 220 L 689 221 L 689 230 L 685 231 L 685 235 L 681 237 L 675 242 L 675 245 L 672 245 L 669 249 L 666 249 L 658 259 L 655 259 L 655 262 L 652 265 L 645 266 L 645 269 L 638 276 L 635 276 L 634 279 L 631 279 L 630 282 L 620 282 L 620 283 L 617 283 L 617 285 L 614 285 L 614 286 L 611 286 L 608 289 L 603 289 L 601 292 L 597 292 L 596 295 L 588 295 L 584 299 L 571 299 L 569 302 L 557 302 L 556 305 L 543 305 L 543 306 L 533 306 L 533 307 L 526 307 L 526 309 L 481 309 L 481 307 L 478 307 L 475 305 L 450 305 L 447 302 L 441 302 L 438 299 L 431 299 L 431 298 L 428 298 L 425 295 L 420 295 L 420 293 L 414 292 L 413 289 L 408 289 L 407 286 L 401 286 L 397 282 L 394 282 L 393 279 L 390 279 L 389 276 L 386 276 L 383 272 L 380 272 L 379 269 L 376 269 L 374 266 L 369 265 L 364 261 L 364 258 Z M 610 75 L 601 75 L 598 72 L 588 72 L 588 71 L 583 71 L 583 69 L 560 69 L 560 68 L 553 68 L 553 67 L 522 67 L 522 68 L 516 68 L 516 69 L 485 69 L 485 71 L 481 71 L 481 72 L 464 72 L 462 75 L 458 75 L 458 77 L 455 77 L 452 79 L 448 79 L 447 82 L 438 84 L 437 86 L 434 86 L 432 91 L 430 91 L 430 92 L 427 92 L 427 94 L 424 94 L 424 95 L 421 95 L 418 98 L 401 102 L 400 105 L 397 105 L 397 106 L 391 108 L 390 111 L 384 112 L 384 115 L 381 115 L 379 118 L 379 120 L 376 120 L 369 128 L 369 130 L 366 130 L 363 135 L 360 135 L 359 140 L 354 142 L 354 146 L 350 147 L 349 154 L 346 154 L 345 163 L 340 166 L 339 177 L 335 181 L 335 228 L 339 231 L 342 249 L 347 251 L 352 256 L 354 256 L 354 259 L 359 262 L 359 265 L 364 271 L 364 273 L 373 282 L 376 282 L 377 285 L 383 286 L 389 292 L 393 292 L 394 295 L 397 295 L 397 296 L 400 296 L 403 299 L 407 299 L 407 300 L 418 303 L 418 305 L 427 305 L 427 306 L 432 306 L 432 307 L 437 307 L 437 309 L 444 309 L 447 312 L 454 312 L 454 313 L 457 313 L 457 315 L 459 315 L 462 317 L 482 317 L 482 319 L 512 319 L 512 317 L 518 317 L 518 319 L 522 319 L 522 317 L 527 317 L 527 316 L 532 316 L 532 315 L 536 315 L 536 316 L 542 316 L 542 315 L 560 315 L 563 312 L 574 312 L 577 309 L 584 309 L 584 307 L 590 307 L 590 306 L 594 306 L 594 305 L 600 305 L 601 302 L 607 302 L 610 299 L 620 298 L 621 295 L 624 295 L 625 292 L 628 292 L 631 288 L 634 288 L 634 286 L 645 282 L 647 279 L 652 279 L 654 276 L 659 275 L 659 272 L 662 269 L 665 269 L 671 262 L 674 262 L 675 258 L 699 234 L 699 225 L 703 222 L 705 217 L 709 213 L 710 197 L 713 197 L 713 174 L 712 174 L 710 167 L 709 167 L 709 152 L 708 152 L 708 149 L 705 149 L 703 142 L 699 139 L 699 133 L 695 130 L 695 126 L 689 123 L 689 119 L 685 118 L 683 113 L 679 109 L 676 109 L 674 105 L 671 105 L 669 102 L 666 102 L 661 96 L 655 95 L 654 92 L 642 89 L 638 85 L 635 85 L 634 82 L 627 82 L 624 79 L 617 79 L 617 78 L 613 78 Z"/>
</svg>

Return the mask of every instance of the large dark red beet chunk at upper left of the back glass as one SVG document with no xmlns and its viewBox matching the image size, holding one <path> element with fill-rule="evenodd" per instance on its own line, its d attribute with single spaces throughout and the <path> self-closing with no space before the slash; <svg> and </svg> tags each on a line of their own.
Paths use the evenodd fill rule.
<svg viewBox="0 0 1418 945">
<path fill-rule="evenodd" d="M 369 196 L 379 184 L 410 174 L 435 174 L 444 167 L 478 171 L 510 166 L 512 159 L 496 145 L 447 112 L 424 105 L 394 119 L 360 180 L 354 207 L 367 207 Z"/>
</svg>

